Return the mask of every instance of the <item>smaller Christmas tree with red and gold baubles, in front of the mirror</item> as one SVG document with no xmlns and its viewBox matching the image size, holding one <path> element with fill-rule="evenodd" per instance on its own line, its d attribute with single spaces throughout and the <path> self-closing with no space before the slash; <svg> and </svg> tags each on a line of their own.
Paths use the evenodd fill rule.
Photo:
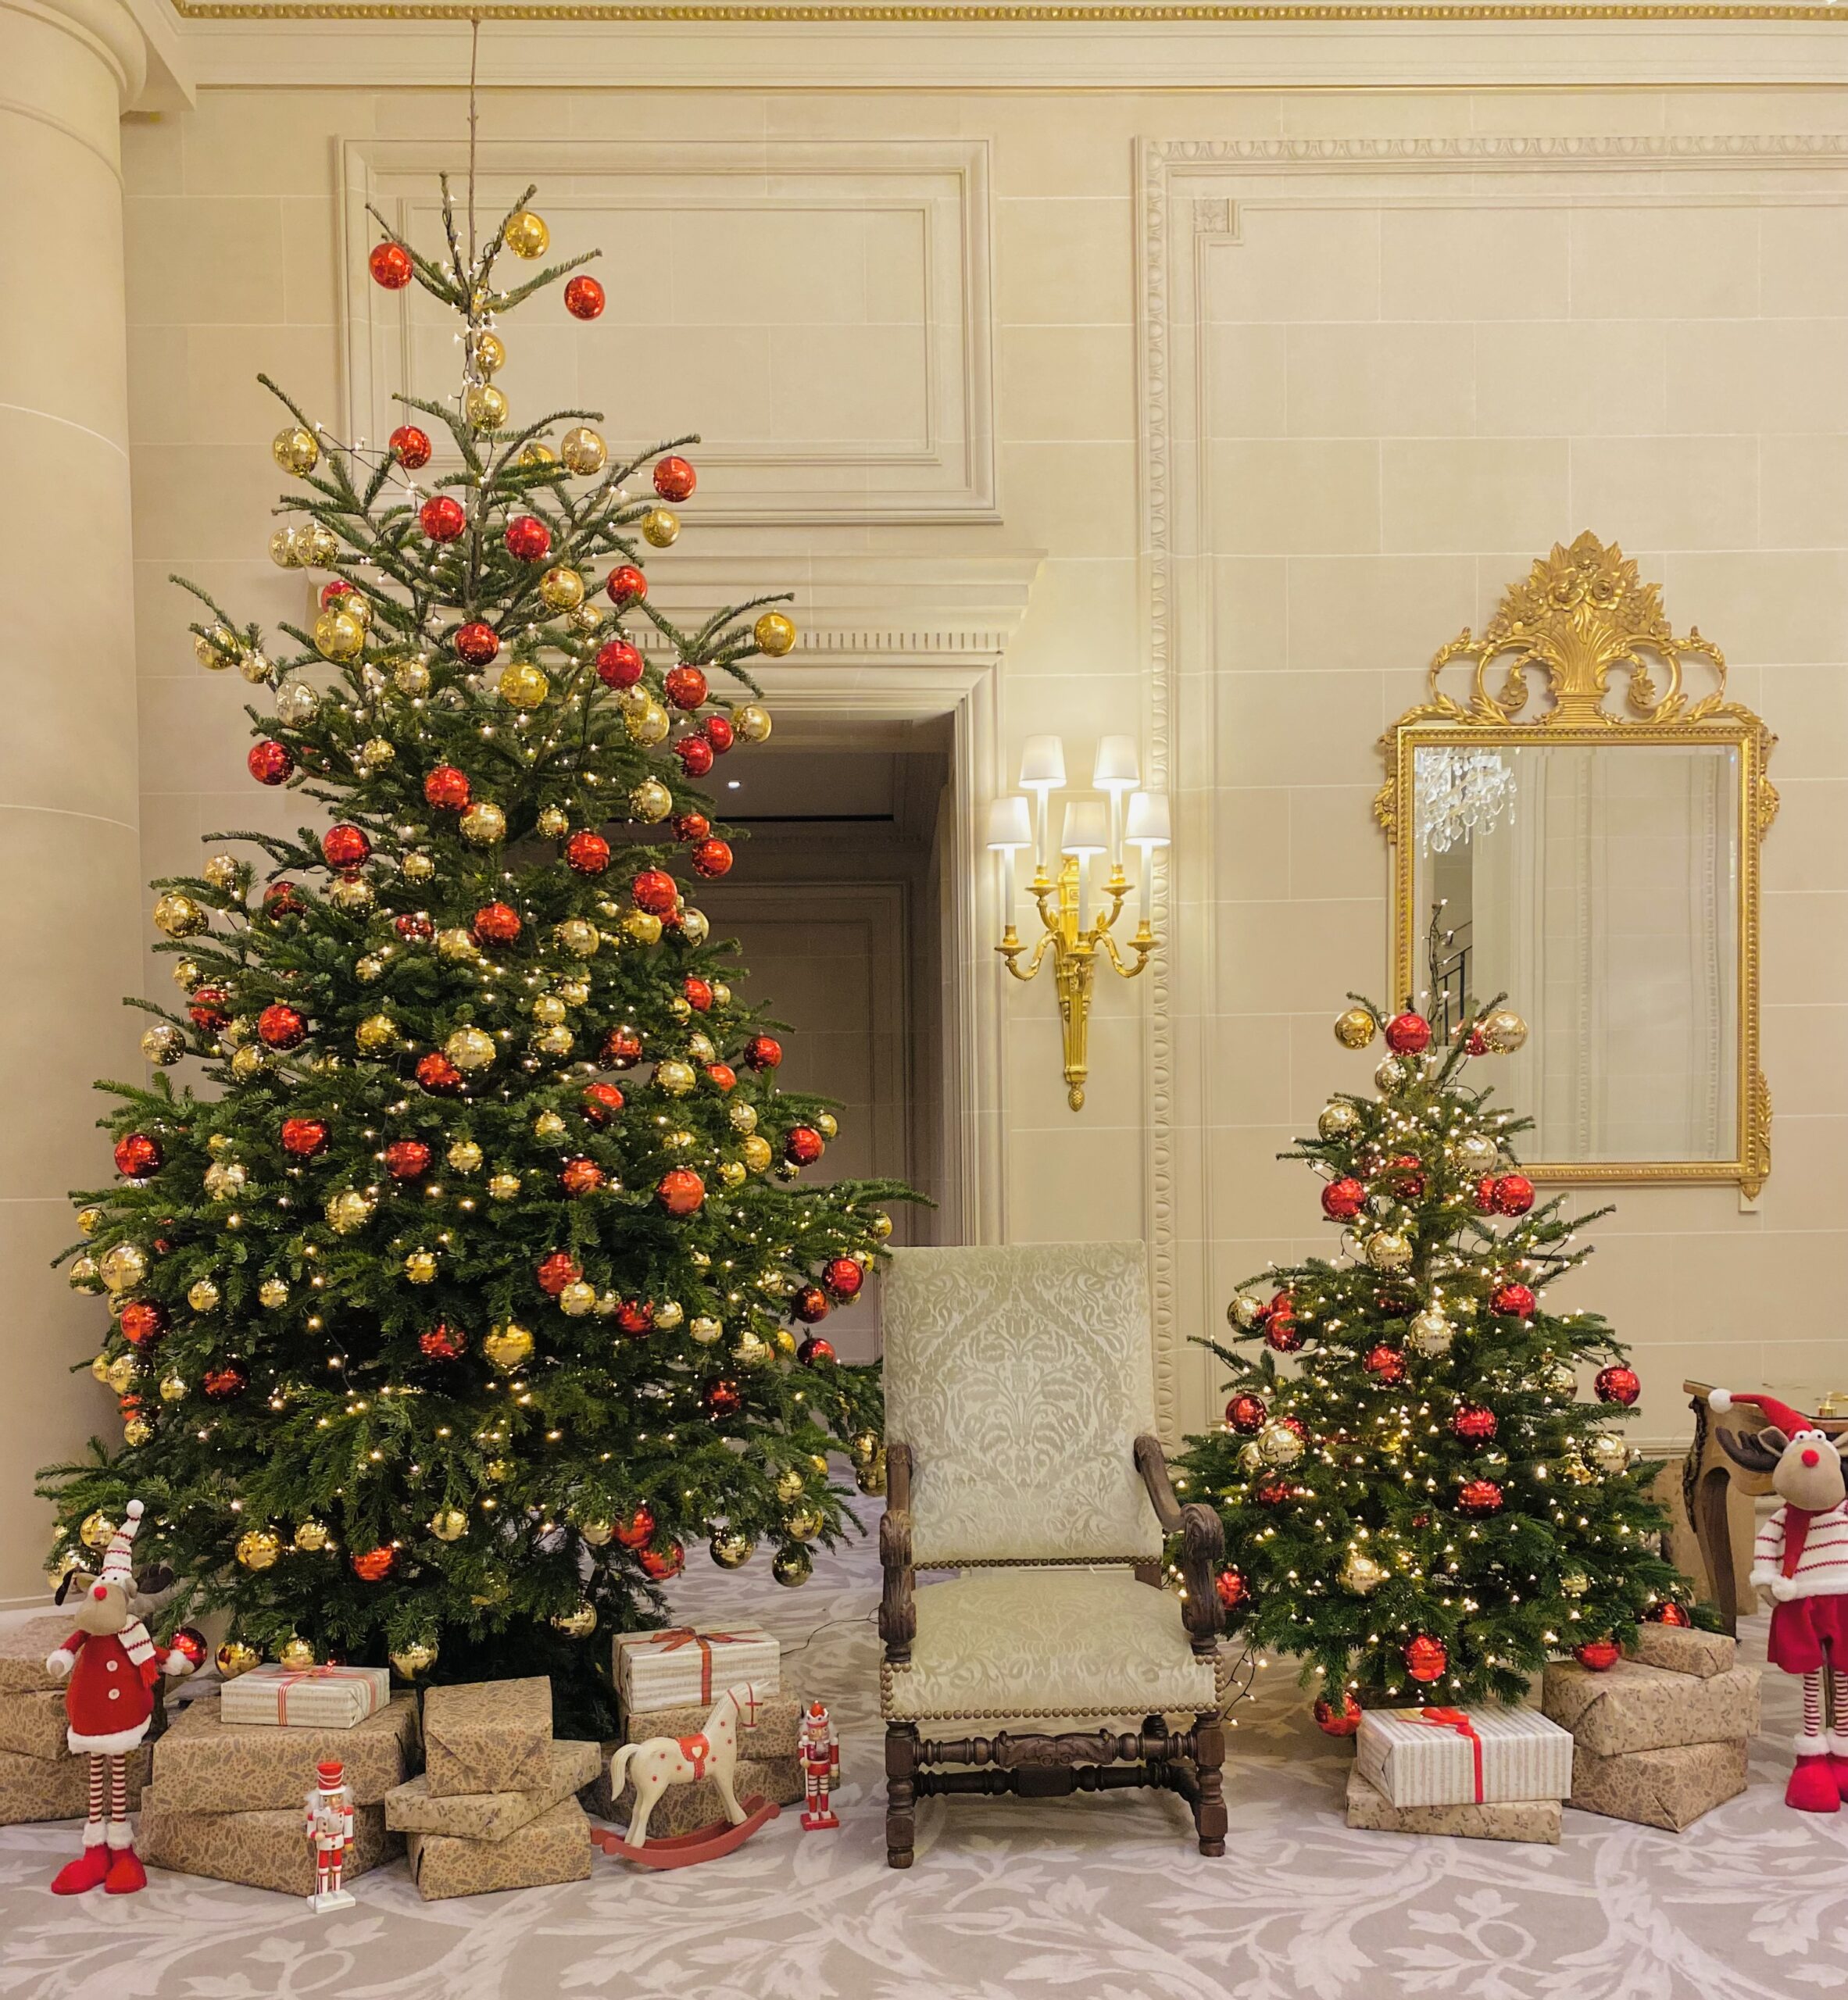
<svg viewBox="0 0 1848 2000">
<path fill-rule="evenodd" d="M 1594 1218 L 1536 1206 L 1510 1144 L 1528 1120 L 1464 1082 L 1526 1026 L 1494 1006 L 1436 1050 L 1422 1016 L 1360 1002 L 1336 1036 L 1382 1026 L 1378 1098 L 1336 1096 L 1284 1154 L 1322 1176 L 1344 1254 L 1232 1300 L 1236 1346 L 1208 1342 L 1236 1370 L 1226 1424 L 1188 1458 L 1226 1522 L 1232 1624 L 1302 1658 L 1334 1734 L 1364 1704 L 1522 1700 L 1550 1656 L 1596 1660 L 1688 1588 L 1660 1556 L 1656 1468 L 1608 1428 L 1638 1392 L 1624 1348 L 1542 1304 Z"/>
</svg>

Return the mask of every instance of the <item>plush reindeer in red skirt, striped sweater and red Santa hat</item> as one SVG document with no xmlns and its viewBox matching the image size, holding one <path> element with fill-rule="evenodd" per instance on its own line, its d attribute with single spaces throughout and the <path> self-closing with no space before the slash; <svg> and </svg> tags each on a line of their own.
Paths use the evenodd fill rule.
<svg viewBox="0 0 1848 2000">
<path fill-rule="evenodd" d="M 1784 1502 L 1752 1544 L 1752 1582 L 1772 1594 L 1770 1662 L 1804 1676 L 1804 1726 L 1784 1804 L 1838 1812 L 1848 1798 L 1848 1480 L 1840 1448 L 1776 1396 L 1716 1388 L 1708 1402 L 1720 1414 L 1748 1402 L 1770 1418 L 1744 1436 L 1718 1432 L 1720 1450 L 1748 1472 L 1768 1472 Z M 1834 1682 L 1830 1732 L 1822 1726 L 1824 1672 Z"/>
</svg>

